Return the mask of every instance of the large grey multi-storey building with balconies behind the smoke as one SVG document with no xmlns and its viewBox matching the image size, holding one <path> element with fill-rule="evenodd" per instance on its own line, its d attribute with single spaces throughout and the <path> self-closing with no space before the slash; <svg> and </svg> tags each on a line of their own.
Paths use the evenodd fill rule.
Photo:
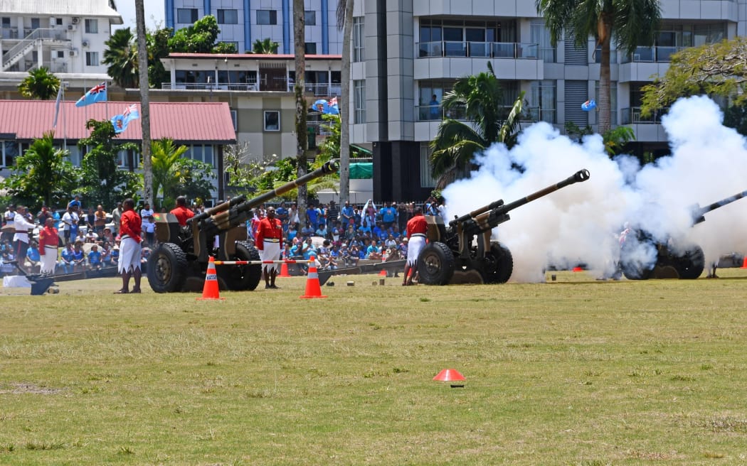
<svg viewBox="0 0 747 466">
<path fill-rule="evenodd" d="M 501 81 L 506 105 L 524 90 L 531 119 L 561 130 L 566 122 L 595 129 L 595 114 L 581 110 L 597 94 L 595 42 L 577 48 L 566 36 L 552 47 L 534 4 L 356 2 L 351 142 L 373 151 L 376 198 L 419 199 L 433 189 L 428 145 L 442 117 L 440 107 L 430 103 L 433 95 L 440 102 L 456 79 L 486 71 L 488 62 Z M 660 5 L 663 22 L 654 45 L 630 56 L 613 51 L 611 69 L 613 126 L 632 125 L 636 151 L 654 153 L 666 151 L 666 134 L 659 115 L 640 116 L 641 87 L 666 72 L 675 51 L 747 32 L 747 0 L 662 0 Z"/>
</svg>

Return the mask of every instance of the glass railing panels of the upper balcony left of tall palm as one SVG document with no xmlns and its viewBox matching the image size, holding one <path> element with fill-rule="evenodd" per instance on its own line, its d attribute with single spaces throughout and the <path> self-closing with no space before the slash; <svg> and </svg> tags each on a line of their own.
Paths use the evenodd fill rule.
<svg viewBox="0 0 747 466">
<path fill-rule="evenodd" d="M 420 42 L 419 56 L 539 59 L 539 44 L 518 42 L 448 41 Z"/>
</svg>

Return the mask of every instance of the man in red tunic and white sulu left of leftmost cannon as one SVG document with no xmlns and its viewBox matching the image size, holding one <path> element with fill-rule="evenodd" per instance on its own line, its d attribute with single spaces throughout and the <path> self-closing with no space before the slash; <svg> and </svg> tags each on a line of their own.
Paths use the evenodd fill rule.
<svg viewBox="0 0 747 466">
<path fill-rule="evenodd" d="M 120 262 L 117 270 L 122 274 L 122 288 L 116 292 L 118 295 L 125 293 L 140 293 L 140 250 L 143 241 L 143 227 L 140 215 L 135 212 L 135 201 L 127 198 L 122 203 L 124 212 L 120 218 Z M 134 278 L 134 287 L 130 291 L 130 277 Z"/>
</svg>

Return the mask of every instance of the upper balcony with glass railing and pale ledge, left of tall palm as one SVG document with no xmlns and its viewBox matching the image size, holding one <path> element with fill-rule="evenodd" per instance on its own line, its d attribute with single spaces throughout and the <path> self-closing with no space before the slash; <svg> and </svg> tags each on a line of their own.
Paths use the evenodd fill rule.
<svg viewBox="0 0 747 466">
<path fill-rule="evenodd" d="M 539 80 L 544 77 L 539 44 L 521 42 L 420 42 L 415 79 L 461 78 L 486 71 L 491 60 L 499 79 Z"/>
</svg>

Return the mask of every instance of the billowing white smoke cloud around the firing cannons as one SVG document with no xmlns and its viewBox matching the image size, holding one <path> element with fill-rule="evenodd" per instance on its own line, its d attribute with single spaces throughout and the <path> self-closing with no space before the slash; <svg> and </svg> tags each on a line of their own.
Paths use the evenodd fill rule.
<svg viewBox="0 0 747 466">
<path fill-rule="evenodd" d="M 747 251 L 747 200 L 708 213 L 695 227 L 690 214 L 697 203 L 747 189 L 745 139 L 722 125 L 719 107 L 705 97 L 675 103 L 663 126 L 672 155 L 642 168 L 633 157 L 610 160 L 601 136 L 579 144 L 547 123 L 527 127 L 510 151 L 492 146 L 476 157 L 479 170 L 444 189 L 447 214 L 463 215 L 500 198 L 508 204 L 588 169 L 586 182 L 512 210 L 511 220 L 494 230 L 514 257 L 512 281 L 544 280 L 549 264 L 584 262 L 600 276 L 609 273 L 625 222 L 657 239 L 695 242 L 707 262 Z"/>
</svg>

